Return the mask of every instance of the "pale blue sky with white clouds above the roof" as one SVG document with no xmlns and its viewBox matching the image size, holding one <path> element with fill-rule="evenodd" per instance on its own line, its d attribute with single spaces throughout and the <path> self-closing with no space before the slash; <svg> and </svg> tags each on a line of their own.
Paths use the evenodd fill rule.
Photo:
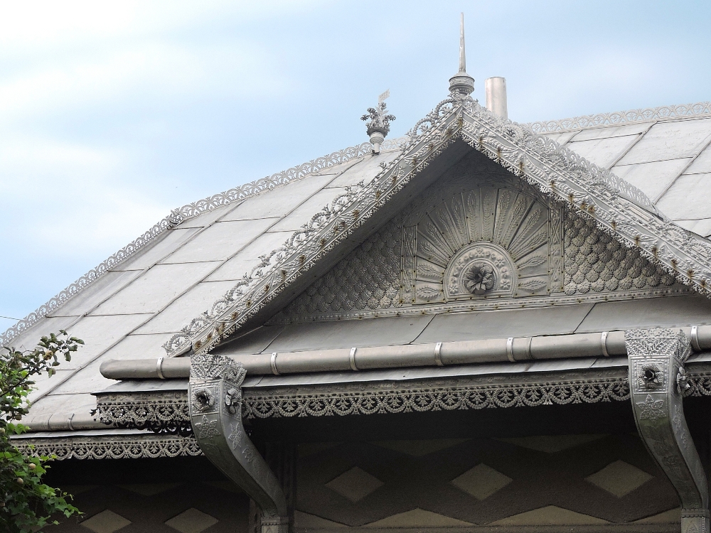
<svg viewBox="0 0 711 533">
<path fill-rule="evenodd" d="M 458 67 L 516 122 L 711 99 L 707 1 L 0 0 L 0 330 L 171 208 L 400 136 Z"/>
</svg>

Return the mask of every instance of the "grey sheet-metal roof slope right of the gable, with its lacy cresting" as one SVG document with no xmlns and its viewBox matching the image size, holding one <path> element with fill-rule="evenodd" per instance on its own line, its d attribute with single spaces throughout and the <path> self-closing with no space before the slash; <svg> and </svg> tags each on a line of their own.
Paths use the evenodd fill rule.
<svg viewBox="0 0 711 533">
<path fill-rule="evenodd" d="M 711 102 L 529 126 L 635 185 L 686 230 L 711 235 Z"/>
</svg>

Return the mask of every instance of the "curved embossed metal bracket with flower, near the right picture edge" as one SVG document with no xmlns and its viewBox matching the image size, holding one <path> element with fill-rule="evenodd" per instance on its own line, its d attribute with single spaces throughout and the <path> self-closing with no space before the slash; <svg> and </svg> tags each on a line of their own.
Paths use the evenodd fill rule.
<svg viewBox="0 0 711 533">
<path fill-rule="evenodd" d="M 689 340 L 682 330 L 629 330 L 625 344 L 634 419 L 649 453 L 679 495 L 681 533 L 708 533 L 708 485 L 682 403 Z"/>
</svg>

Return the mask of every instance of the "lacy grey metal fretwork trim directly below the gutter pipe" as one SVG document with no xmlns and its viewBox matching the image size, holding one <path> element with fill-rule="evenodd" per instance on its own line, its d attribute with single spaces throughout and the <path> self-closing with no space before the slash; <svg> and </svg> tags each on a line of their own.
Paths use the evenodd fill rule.
<svg viewBox="0 0 711 533">
<path fill-rule="evenodd" d="M 317 392 L 279 392 L 269 394 L 245 389 L 242 416 L 267 418 L 272 416 L 345 416 L 348 414 L 397 413 L 407 411 L 437 411 L 448 409 L 483 409 L 491 407 L 523 407 L 542 404 L 624 401 L 629 399 L 626 370 L 611 377 L 566 379 L 548 382 L 510 382 L 509 384 L 477 384 L 469 387 L 447 386 L 347 390 L 353 384 L 337 390 Z M 684 396 L 711 396 L 711 372 L 693 372 L 688 376 Z M 360 385 L 357 385 L 360 387 Z M 134 394 L 102 394 L 97 397 L 100 419 L 105 424 L 122 428 L 153 429 L 166 433 L 175 426 L 191 432 L 186 392 L 146 392 Z M 174 408 L 168 407 L 174 404 Z M 409 407 L 408 407 L 409 406 Z"/>
</svg>

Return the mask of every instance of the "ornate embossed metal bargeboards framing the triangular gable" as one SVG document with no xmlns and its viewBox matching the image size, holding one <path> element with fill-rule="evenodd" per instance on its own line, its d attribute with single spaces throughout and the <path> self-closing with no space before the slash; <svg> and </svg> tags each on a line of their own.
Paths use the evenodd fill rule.
<svg viewBox="0 0 711 533">
<path fill-rule="evenodd" d="M 402 154 L 373 181 L 347 188 L 282 247 L 265 255 L 262 264 L 210 311 L 174 335 L 165 345 L 169 355 L 191 348 L 210 350 L 267 308 L 294 281 L 303 282 L 304 274 L 339 244 L 353 239 L 371 217 L 382 216 L 397 193 L 459 140 L 545 197 L 593 222 L 624 247 L 637 247 L 643 257 L 663 266 L 680 283 L 709 296 L 711 244 L 666 220 L 637 188 L 554 141 L 496 117 L 470 97 L 440 102 L 408 136 Z"/>
</svg>

